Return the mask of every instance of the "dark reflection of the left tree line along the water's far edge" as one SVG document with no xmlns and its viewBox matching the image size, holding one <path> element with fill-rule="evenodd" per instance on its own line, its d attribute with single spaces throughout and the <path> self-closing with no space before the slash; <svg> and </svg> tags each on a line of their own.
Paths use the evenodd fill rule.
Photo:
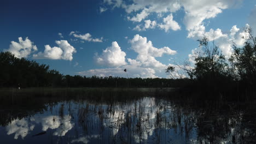
<svg viewBox="0 0 256 144">
<path fill-rule="evenodd" d="M 100 90 L 100 91 L 99 91 Z M 0 125 L 8 125 L 14 119 L 32 116 L 34 113 L 46 110 L 47 105 L 53 106 L 59 101 L 77 99 L 89 100 L 91 103 L 129 103 L 139 99 L 143 93 L 136 89 L 110 91 L 109 89 L 7 89 L 1 91 Z M 63 108 L 63 107 L 62 107 Z M 60 109 L 60 115 L 63 111 Z"/>
</svg>

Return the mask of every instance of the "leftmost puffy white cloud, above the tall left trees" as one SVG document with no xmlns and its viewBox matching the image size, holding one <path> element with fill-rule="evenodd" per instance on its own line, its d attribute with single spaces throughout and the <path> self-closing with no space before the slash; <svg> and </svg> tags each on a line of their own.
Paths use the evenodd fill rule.
<svg viewBox="0 0 256 144">
<path fill-rule="evenodd" d="M 11 41 L 9 49 L 4 49 L 3 51 L 9 51 L 15 55 L 15 57 L 22 58 L 27 57 L 32 52 L 37 51 L 37 46 L 33 45 L 33 42 L 26 37 L 25 40 L 19 37 L 19 43 Z"/>
</svg>

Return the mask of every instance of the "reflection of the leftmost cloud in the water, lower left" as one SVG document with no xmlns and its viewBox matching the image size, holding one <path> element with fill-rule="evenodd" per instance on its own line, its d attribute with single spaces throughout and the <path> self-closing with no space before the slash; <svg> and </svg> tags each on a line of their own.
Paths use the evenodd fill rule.
<svg viewBox="0 0 256 144">
<path fill-rule="evenodd" d="M 28 127 L 28 122 L 25 118 L 22 119 L 15 119 L 12 121 L 6 128 L 7 135 L 14 134 L 14 139 L 18 139 L 21 136 L 22 139 L 27 136 L 29 130 L 34 129 L 34 125 Z"/>
</svg>

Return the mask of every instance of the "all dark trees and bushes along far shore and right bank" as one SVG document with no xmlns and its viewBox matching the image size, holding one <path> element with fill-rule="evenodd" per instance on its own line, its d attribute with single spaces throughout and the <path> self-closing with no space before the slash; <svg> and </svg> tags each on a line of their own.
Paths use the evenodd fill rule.
<svg viewBox="0 0 256 144">
<path fill-rule="evenodd" d="M 124 78 L 63 75 L 49 65 L 10 52 L 0 53 L 0 88 L 71 87 L 71 88 L 177 88 L 176 92 L 201 95 L 202 98 L 226 97 L 236 100 L 255 99 L 256 95 L 256 38 L 252 29 L 245 29 L 247 36 L 242 47 L 233 44 L 232 55 L 226 58 L 219 47 L 207 38 L 199 41 L 202 50 L 195 57 L 195 64 L 187 61 L 177 67 L 168 66 L 171 79 Z M 126 69 L 125 69 L 126 70 Z M 124 71 L 125 73 L 125 71 Z"/>
</svg>

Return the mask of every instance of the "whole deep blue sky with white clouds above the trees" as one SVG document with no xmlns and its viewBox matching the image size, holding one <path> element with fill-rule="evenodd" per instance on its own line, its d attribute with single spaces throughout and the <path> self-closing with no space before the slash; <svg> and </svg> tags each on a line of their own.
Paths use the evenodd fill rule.
<svg viewBox="0 0 256 144">
<path fill-rule="evenodd" d="M 0 51 L 69 75 L 166 77 L 207 37 L 230 57 L 256 29 L 256 1 L 2 1 Z M 20 38 L 21 37 L 21 38 Z M 177 67 L 178 69 L 178 67 Z M 183 76 L 178 73 L 176 76 Z"/>
</svg>

